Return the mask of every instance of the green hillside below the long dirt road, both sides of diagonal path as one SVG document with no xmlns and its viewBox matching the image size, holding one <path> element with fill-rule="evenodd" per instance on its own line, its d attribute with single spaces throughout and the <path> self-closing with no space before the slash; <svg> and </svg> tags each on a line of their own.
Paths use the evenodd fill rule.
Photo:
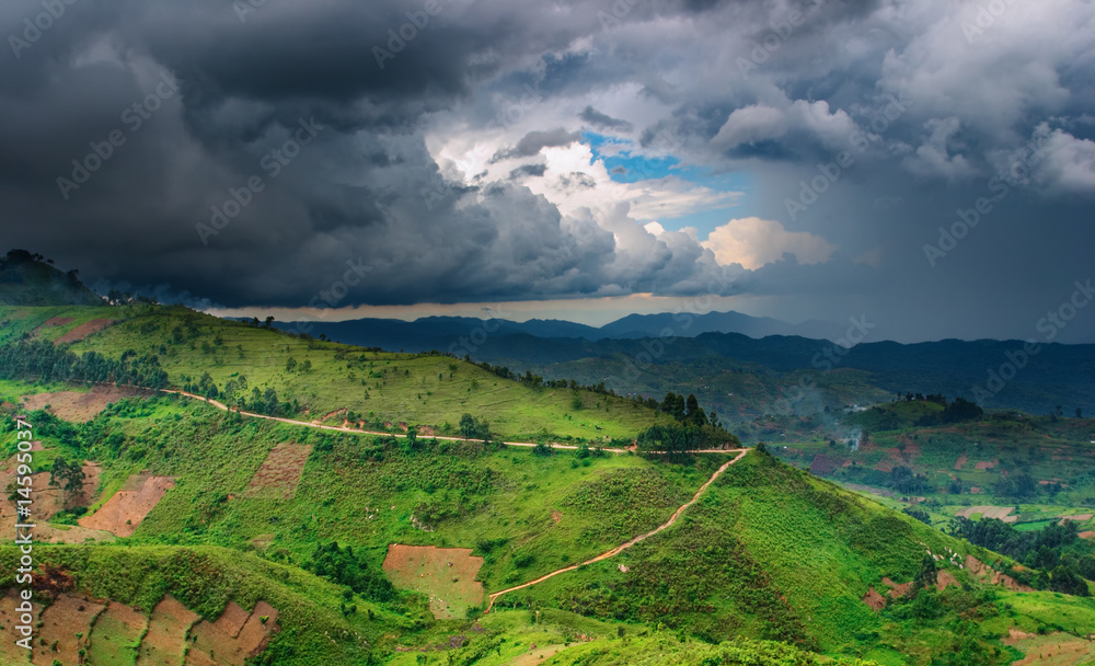
<svg viewBox="0 0 1095 666">
<path fill-rule="evenodd" d="M 0 388 L 22 393 L 32 387 L 8 382 Z M 198 578 L 189 586 L 185 562 L 206 562 L 203 570 L 220 571 L 214 560 L 201 558 L 221 558 L 235 566 L 260 567 L 265 572 L 260 582 L 298 581 L 306 589 L 309 581 L 323 581 L 301 570 L 316 570 L 316 548 L 333 541 L 344 550 L 353 547 L 373 573 L 390 543 L 471 548 L 485 560 L 479 579 L 486 592 L 495 592 L 583 561 L 664 523 L 726 458 L 698 456 L 690 464 L 666 464 L 636 456 L 538 457 L 528 449 L 499 451 L 481 443 L 435 445 L 424 437 L 410 447 L 406 440 L 390 437 L 243 418 L 178 397 L 127 399 L 82 425 L 59 422 L 44 412 L 32 414 L 32 421 L 46 446 L 36 458 L 82 457 L 104 463 L 95 505 L 138 472 L 176 479 L 175 487 L 132 537 L 113 547 L 49 552 L 59 553 L 57 558 L 72 571 L 94 572 L 88 581 L 105 575 L 101 558 L 119 563 L 131 556 L 132 574 L 150 576 L 152 583 L 132 583 L 119 575 L 117 587 L 102 588 L 103 595 L 132 602 L 129 599 L 152 598 L 170 589 L 204 615 L 216 615 L 229 593 L 240 596 L 232 597 L 238 602 L 251 602 L 255 595 L 243 590 L 258 583 L 217 574 L 221 577 Z M 4 440 L 11 441 L 7 435 Z M 287 498 L 254 494 L 255 472 L 283 443 L 311 447 L 299 485 Z M 1051 593 L 1001 592 L 1000 599 L 993 598 L 996 593 L 952 564 L 948 548 L 957 553 L 954 561 L 963 561 L 967 552 L 993 561 L 979 549 L 753 451 L 728 468 L 673 527 L 618 558 L 499 598 L 480 625 L 487 627 L 486 633 L 460 619 L 434 620 L 419 596 L 401 594 L 382 600 L 366 590 L 347 600 L 341 594 L 346 579 L 327 587 L 328 593 L 306 596 L 336 621 L 342 618 L 341 605 L 356 604 L 358 617 L 350 615 L 344 621 L 349 625 L 346 631 L 362 636 L 374 635 L 367 633 L 371 624 L 360 624 L 366 609 L 390 618 L 381 622 L 387 638 L 379 643 L 369 639 L 369 651 L 377 651 L 378 663 L 390 658 L 394 664 L 417 664 L 417 656 L 445 664 L 448 654 L 454 663 L 514 663 L 526 652 L 518 651 L 518 643 L 543 645 L 529 633 L 535 630 L 515 624 L 492 633 L 488 624 L 498 617 L 554 612 L 552 607 L 599 618 L 610 629 L 624 622 L 626 635 L 650 631 L 641 638 L 654 641 L 627 650 L 622 642 L 618 646 L 572 641 L 553 657 L 558 664 L 602 663 L 599 659 L 615 658 L 618 650 L 623 650 L 620 658 L 652 659 L 652 664 L 672 663 L 656 661 L 666 654 L 678 655 L 682 663 L 722 658 L 717 655 L 724 646 L 692 644 L 659 650 L 656 657 L 647 647 L 672 642 L 658 630 L 659 623 L 682 638 L 713 643 L 735 636 L 774 639 L 795 650 L 862 656 L 881 664 L 927 664 L 964 641 L 989 651 L 989 661 L 972 663 L 1003 663 L 1005 653 L 995 655 L 992 650 L 1003 650 L 998 639 L 1011 627 L 1030 632 L 1057 625 L 1069 632 L 1095 629 L 1091 600 Z M 912 581 L 922 567 L 924 550 L 946 553 L 948 560 L 938 562 L 940 569 L 970 589 L 952 585 L 943 593 L 925 592 L 915 601 L 877 613 L 861 600 L 871 586 L 886 589 L 884 576 L 897 583 Z M 172 586 L 163 587 L 162 581 Z M 204 589 L 211 590 L 205 609 L 197 600 Z M 263 592 L 281 610 L 274 594 Z M 521 610 L 507 608 L 515 606 Z M 993 629 L 964 628 L 963 618 L 971 616 L 995 618 Z M 303 632 L 301 644 L 311 645 L 311 630 L 289 615 L 283 628 L 287 635 Z M 552 640 L 565 642 L 567 635 L 574 639 L 585 632 L 560 630 Z M 608 638 L 603 627 L 593 633 Z M 395 652 L 395 644 L 417 650 L 454 635 L 471 643 L 447 647 L 442 654 Z M 643 642 L 637 639 L 636 643 Z M 293 641 L 288 644 L 296 645 Z M 789 647 L 780 650 L 792 659 L 788 663 L 816 658 Z M 758 659 L 771 656 L 758 654 L 762 655 Z M 364 664 L 369 657 L 358 652 L 333 658 L 333 663 Z M 309 663 L 286 659 L 270 663 Z"/>
</svg>

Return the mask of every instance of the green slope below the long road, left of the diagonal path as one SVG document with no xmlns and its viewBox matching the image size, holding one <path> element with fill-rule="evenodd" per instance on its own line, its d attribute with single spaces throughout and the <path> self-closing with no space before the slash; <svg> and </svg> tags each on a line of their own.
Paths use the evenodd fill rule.
<svg viewBox="0 0 1095 666">
<path fill-rule="evenodd" d="M 82 426 L 44 412 L 32 417 L 47 447 L 36 455 L 39 464 L 57 455 L 103 462 L 91 513 L 131 475 L 176 480 L 135 541 L 257 548 L 298 564 L 331 541 L 364 549 L 376 564 L 389 543 L 474 548 L 486 558 L 480 576 L 492 589 L 657 527 L 715 463 L 539 457 L 426 437 L 412 448 L 405 439 L 245 418 L 178 397 L 126 400 Z M 288 498 L 256 493 L 252 480 L 281 443 L 312 447 L 300 482 Z"/>
</svg>

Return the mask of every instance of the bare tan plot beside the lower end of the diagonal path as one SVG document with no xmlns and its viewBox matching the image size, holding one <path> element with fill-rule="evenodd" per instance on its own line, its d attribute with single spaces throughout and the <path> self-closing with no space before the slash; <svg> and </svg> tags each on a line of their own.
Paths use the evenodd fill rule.
<svg viewBox="0 0 1095 666">
<path fill-rule="evenodd" d="M 437 548 L 392 543 L 384 558 L 384 573 L 395 587 L 429 597 L 437 619 L 462 618 L 471 606 L 483 602 L 483 584 L 475 579 L 483 558 L 470 548 Z"/>
</svg>

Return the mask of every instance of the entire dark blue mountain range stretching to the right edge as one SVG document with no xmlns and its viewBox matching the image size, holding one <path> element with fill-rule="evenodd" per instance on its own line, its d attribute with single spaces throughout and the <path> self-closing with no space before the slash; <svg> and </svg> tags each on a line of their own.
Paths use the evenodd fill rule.
<svg viewBox="0 0 1095 666">
<path fill-rule="evenodd" d="M 601 328 L 457 317 L 275 325 L 347 344 L 466 355 L 552 379 L 603 381 L 622 393 L 695 393 L 704 405 L 728 417 L 752 418 L 786 400 L 794 410 L 810 413 L 907 392 L 984 399 L 984 393 L 975 394 L 975 387 L 992 391 L 981 400 L 984 406 L 1036 414 L 1058 406 L 1070 415 L 1077 407 L 1095 413 L 1095 345 L 1042 345 L 1022 368 L 1010 368 L 1007 355 L 1022 349 L 1022 342 L 876 342 L 845 352 L 830 342 L 838 333 L 843 335 L 843 326 L 826 322 L 795 326 L 738 312 L 691 319 L 636 314 Z M 723 330 L 733 328 L 739 330 Z M 775 333 L 787 330 L 804 333 Z M 992 379 L 993 372 L 1011 379 L 990 386 L 999 381 Z"/>
</svg>

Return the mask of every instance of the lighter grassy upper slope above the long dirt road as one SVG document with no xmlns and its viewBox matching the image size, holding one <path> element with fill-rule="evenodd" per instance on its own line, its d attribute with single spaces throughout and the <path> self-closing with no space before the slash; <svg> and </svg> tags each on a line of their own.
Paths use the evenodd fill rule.
<svg viewBox="0 0 1095 666">
<path fill-rule="evenodd" d="M 505 438 L 603 443 L 632 439 L 654 423 L 671 421 L 631 400 L 569 388 L 537 389 L 442 355 L 306 340 L 185 308 L 89 310 L 0 308 L 0 320 L 8 322 L 0 326 L 0 343 L 24 334 L 56 340 L 62 331 L 43 325 L 54 317 L 73 318 L 67 325 L 74 326 L 91 317 L 108 315 L 118 323 L 72 344 L 71 351 L 117 359 L 132 349 L 138 356 L 157 356 L 175 388 L 207 394 L 214 386 L 219 400 L 247 404 L 256 389 L 260 394 L 269 389 L 281 404 L 295 405 L 297 418 L 339 425 L 349 418 L 376 429 L 405 423 L 456 435 L 461 416 L 471 413 Z"/>
</svg>

